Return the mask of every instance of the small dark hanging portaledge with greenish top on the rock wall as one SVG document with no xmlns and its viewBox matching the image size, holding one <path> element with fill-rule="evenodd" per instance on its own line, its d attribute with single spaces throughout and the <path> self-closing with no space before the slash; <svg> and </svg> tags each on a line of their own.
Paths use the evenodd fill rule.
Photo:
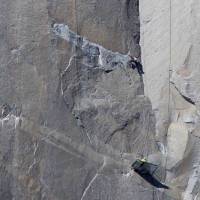
<svg viewBox="0 0 200 200">
<path fill-rule="evenodd" d="M 147 162 L 145 158 L 137 159 L 132 165 L 131 169 L 139 174 L 144 180 L 153 185 L 156 188 L 170 189 L 167 185 L 161 183 L 154 177 L 155 171 L 158 169 L 158 165 Z"/>
</svg>

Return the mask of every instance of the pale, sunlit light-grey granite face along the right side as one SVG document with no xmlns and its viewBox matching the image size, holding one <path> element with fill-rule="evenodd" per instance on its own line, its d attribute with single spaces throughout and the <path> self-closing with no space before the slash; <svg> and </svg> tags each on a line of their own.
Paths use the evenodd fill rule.
<svg viewBox="0 0 200 200">
<path fill-rule="evenodd" d="M 167 178 L 184 200 L 199 199 L 199 8 L 195 0 L 140 1 L 145 92 L 167 149 Z"/>
</svg>

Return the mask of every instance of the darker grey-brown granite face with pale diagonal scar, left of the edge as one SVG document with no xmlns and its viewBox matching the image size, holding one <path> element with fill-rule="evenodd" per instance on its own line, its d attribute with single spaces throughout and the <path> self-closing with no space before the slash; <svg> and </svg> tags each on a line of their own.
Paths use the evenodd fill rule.
<svg viewBox="0 0 200 200">
<path fill-rule="evenodd" d="M 130 172 L 141 154 L 160 162 L 126 55 L 140 56 L 138 1 L 1 0 L 0 13 L 0 199 L 161 196 Z"/>
</svg>

